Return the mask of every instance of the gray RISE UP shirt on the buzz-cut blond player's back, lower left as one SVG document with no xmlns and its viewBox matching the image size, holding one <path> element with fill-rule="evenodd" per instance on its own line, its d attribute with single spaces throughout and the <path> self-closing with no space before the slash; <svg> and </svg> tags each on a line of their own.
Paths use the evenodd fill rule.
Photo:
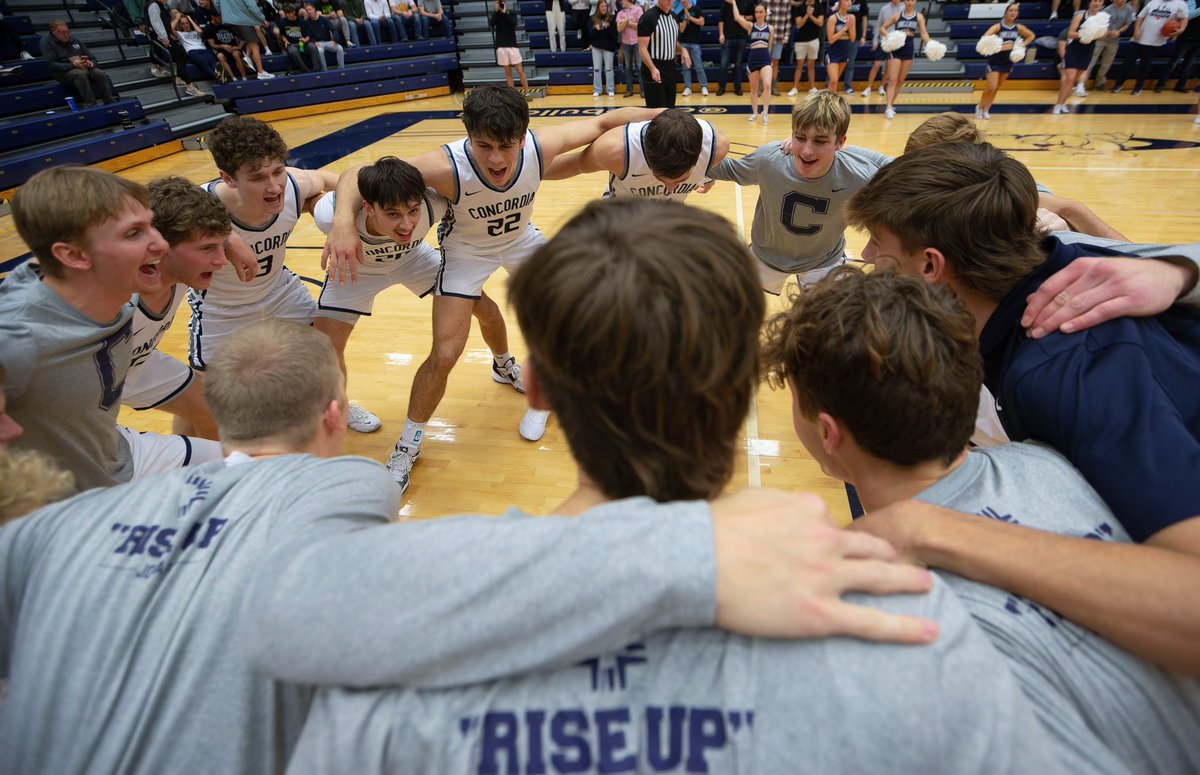
<svg viewBox="0 0 1200 775">
<path fill-rule="evenodd" d="M 312 691 L 251 669 L 246 588 L 281 546 L 386 521 L 400 491 L 361 458 L 241 458 L 0 528 L 0 773 L 283 770 Z"/>
</svg>

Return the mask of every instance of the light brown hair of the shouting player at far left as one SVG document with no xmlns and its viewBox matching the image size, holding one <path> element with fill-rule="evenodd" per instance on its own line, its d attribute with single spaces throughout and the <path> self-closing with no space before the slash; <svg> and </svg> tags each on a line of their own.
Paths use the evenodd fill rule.
<svg viewBox="0 0 1200 775">
<path fill-rule="evenodd" d="M 89 229 L 119 217 L 133 203 L 150 206 L 145 186 L 102 169 L 52 167 L 17 190 L 12 220 L 42 271 L 62 277 L 62 264 L 50 247 L 55 242 L 85 242 Z"/>
</svg>

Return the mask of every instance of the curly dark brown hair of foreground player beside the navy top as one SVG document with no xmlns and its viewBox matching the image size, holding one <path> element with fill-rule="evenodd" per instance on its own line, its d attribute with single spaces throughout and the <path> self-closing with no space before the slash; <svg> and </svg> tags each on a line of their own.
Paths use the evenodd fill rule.
<svg viewBox="0 0 1200 775">
<path fill-rule="evenodd" d="M 974 429 L 983 359 L 953 292 L 893 271 L 841 268 L 802 288 L 764 329 L 763 374 L 790 384 L 875 457 L 950 463 Z"/>
</svg>

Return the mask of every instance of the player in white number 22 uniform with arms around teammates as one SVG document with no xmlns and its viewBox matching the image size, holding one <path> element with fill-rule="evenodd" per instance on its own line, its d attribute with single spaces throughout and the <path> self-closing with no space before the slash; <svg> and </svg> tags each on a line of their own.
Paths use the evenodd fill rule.
<svg viewBox="0 0 1200 775">
<path fill-rule="evenodd" d="M 614 127 L 649 120 L 655 110 L 622 108 L 602 115 L 529 131 L 529 103 L 508 86 L 472 89 L 463 100 L 462 120 L 467 137 L 412 161 L 427 186 L 450 204 L 438 241 L 442 271 L 433 298 L 433 348 L 413 379 L 408 417 L 388 468 L 402 489 L 408 488 L 413 463 L 421 451 L 425 423 L 445 393 L 450 370 L 462 355 L 470 332 L 470 316 L 482 295 L 484 283 L 503 266 L 514 271 L 545 242 L 530 222 L 534 198 L 548 169 L 563 151 L 592 143 Z M 356 169 L 343 174 L 337 191 L 337 211 L 323 262 L 332 256 L 335 276 L 344 278 L 362 262 L 355 217 L 361 206 Z M 494 354 L 498 359 L 503 354 Z M 524 390 L 521 367 L 508 356 L 493 362 L 492 377 Z M 546 432 L 550 413 L 530 409 L 521 420 L 520 433 L 536 441 Z"/>
</svg>

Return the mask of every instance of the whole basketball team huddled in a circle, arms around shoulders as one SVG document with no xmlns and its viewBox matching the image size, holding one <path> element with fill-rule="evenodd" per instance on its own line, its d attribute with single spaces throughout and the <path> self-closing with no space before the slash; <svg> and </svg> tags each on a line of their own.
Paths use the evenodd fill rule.
<svg viewBox="0 0 1200 775">
<path fill-rule="evenodd" d="M 958 114 L 846 145 L 828 91 L 742 157 L 676 109 L 533 131 L 509 88 L 463 122 L 336 176 L 230 118 L 203 186 L 17 193 L 0 509 L 85 492 L 0 524 L 0 770 L 1200 770 L 1200 245 L 1130 242 Z M 600 170 L 547 240 L 541 182 Z M 684 202 L 718 181 L 760 188 L 749 246 Z M 396 284 L 433 335 L 382 467 L 341 456 L 380 427 L 344 353 Z M 156 349 L 185 296 L 186 365 Z M 520 434 L 557 416 L 574 518 L 390 523 L 472 318 Z M 850 529 L 725 494 L 763 380 Z"/>
</svg>

